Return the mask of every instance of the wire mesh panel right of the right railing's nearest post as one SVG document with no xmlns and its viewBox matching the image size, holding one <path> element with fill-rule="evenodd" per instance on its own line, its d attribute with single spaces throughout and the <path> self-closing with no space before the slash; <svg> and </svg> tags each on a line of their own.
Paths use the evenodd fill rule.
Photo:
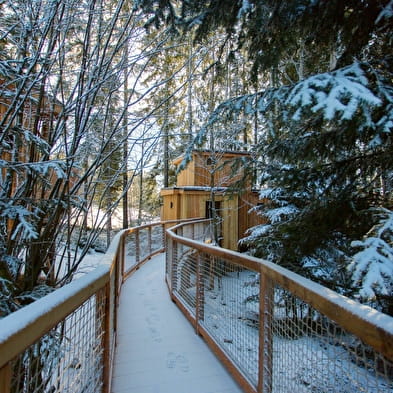
<svg viewBox="0 0 393 393">
<path fill-rule="evenodd" d="M 393 364 L 334 321 L 275 286 L 273 392 L 393 392 Z"/>
</svg>

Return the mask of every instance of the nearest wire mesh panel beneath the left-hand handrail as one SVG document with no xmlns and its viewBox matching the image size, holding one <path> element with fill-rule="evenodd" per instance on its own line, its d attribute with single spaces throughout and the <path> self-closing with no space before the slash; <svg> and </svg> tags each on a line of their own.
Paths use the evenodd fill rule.
<svg viewBox="0 0 393 393">
<path fill-rule="evenodd" d="M 105 296 L 91 297 L 11 362 L 11 393 L 96 393 L 103 384 Z"/>
</svg>

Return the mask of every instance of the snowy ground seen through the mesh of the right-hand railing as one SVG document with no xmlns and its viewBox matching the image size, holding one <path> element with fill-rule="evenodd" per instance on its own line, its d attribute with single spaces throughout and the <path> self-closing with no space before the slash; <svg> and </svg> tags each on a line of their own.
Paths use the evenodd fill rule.
<svg viewBox="0 0 393 393">
<path fill-rule="evenodd" d="M 219 285 L 215 283 L 205 292 L 201 324 L 256 385 L 259 304 L 245 302 L 258 291 L 249 285 L 255 279 L 251 271 L 222 276 Z M 190 292 L 195 293 L 191 288 Z M 377 375 L 374 359 L 364 367 L 367 349 L 359 347 L 362 352 L 355 353 L 351 346 L 356 342 L 354 336 L 333 322 L 329 325 L 332 331 L 323 333 L 319 331 L 322 324 L 314 330 L 303 322 L 294 324 L 293 319 L 285 316 L 284 306 L 277 306 L 282 295 L 282 290 L 276 289 L 271 326 L 273 392 L 393 393 L 393 380 L 389 382 Z"/>
</svg>

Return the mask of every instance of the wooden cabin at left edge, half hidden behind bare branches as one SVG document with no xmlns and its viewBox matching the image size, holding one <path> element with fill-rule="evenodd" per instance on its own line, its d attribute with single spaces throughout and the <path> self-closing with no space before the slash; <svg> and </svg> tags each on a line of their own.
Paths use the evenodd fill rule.
<svg viewBox="0 0 393 393">
<path fill-rule="evenodd" d="M 33 171 L 34 165 L 49 162 L 48 151 L 43 146 L 53 146 L 55 140 L 55 123 L 63 111 L 62 104 L 47 94 L 44 86 L 28 86 L 25 76 L 20 75 L 12 67 L 2 65 L 0 69 L 0 187 L 2 202 L 14 206 L 14 211 L 37 211 L 41 201 L 49 200 L 52 189 L 59 180 L 55 170 L 50 168 L 46 173 Z M 47 149 L 49 150 L 49 149 Z M 27 165 L 25 165 L 27 164 Z M 31 165 L 31 166 L 29 166 Z M 23 192 L 22 192 L 23 191 Z M 41 211 L 42 211 L 41 210 Z M 11 209 L 9 211 L 12 212 Z M 40 210 L 38 210 L 40 211 Z M 18 214 L 3 214 L 1 220 L 1 236 L 8 239 L 9 244 L 16 242 L 20 218 Z M 38 220 L 40 232 L 47 221 Z M 37 224 L 38 226 L 38 224 Z M 37 228 L 35 228 L 37 229 Z M 44 232 L 44 231 L 42 231 Z M 54 258 L 53 244 L 42 246 L 41 239 L 28 243 L 29 258 L 45 260 L 48 266 Z M 15 247 L 11 247 L 15 249 Z M 32 251 L 34 249 L 34 251 Z M 49 250 L 49 251 L 48 251 Z M 27 253 L 27 252 L 26 252 Z M 21 275 L 25 271 L 20 269 Z M 49 269 L 54 281 L 54 270 Z"/>
</svg>

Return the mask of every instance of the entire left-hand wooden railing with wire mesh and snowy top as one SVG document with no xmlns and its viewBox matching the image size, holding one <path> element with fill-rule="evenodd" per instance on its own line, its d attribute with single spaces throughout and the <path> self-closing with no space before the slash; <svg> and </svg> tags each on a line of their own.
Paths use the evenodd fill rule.
<svg viewBox="0 0 393 393">
<path fill-rule="evenodd" d="M 121 285 L 176 222 L 121 231 L 96 270 L 1 319 L 0 392 L 109 393 Z"/>
</svg>

